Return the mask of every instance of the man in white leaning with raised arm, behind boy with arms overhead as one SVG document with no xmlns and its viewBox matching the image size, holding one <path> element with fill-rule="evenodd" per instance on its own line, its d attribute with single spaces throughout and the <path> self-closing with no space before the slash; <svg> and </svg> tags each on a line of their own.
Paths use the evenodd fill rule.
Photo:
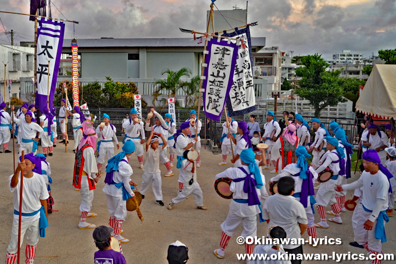
<svg viewBox="0 0 396 264">
<path fill-rule="evenodd" d="M 154 131 L 157 133 L 162 134 L 165 140 L 168 138 L 168 124 L 165 122 L 165 120 L 162 118 L 162 116 L 154 110 L 154 108 L 151 108 L 151 113 L 155 114 L 155 126 L 150 127 L 150 119 L 146 119 L 146 131 Z M 159 146 L 162 146 L 164 143 L 161 138 L 158 139 L 159 141 Z M 172 169 L 169 164 L 169 158 L 167 157 L 167 152 L 166 148 L 164 148 L 160 154 L 159 154 L 159 160 L 164 163 L 166 169 L 168 172 L 165 174 L 165 177 L 170 177 L 175 175 L 175 173 L 172 172 Z"/>
</svg>

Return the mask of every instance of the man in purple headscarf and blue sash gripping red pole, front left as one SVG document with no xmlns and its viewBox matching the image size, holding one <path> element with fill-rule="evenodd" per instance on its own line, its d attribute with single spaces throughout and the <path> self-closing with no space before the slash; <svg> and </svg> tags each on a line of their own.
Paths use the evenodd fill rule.
<svg viewBox="0 0 396 264">
<path fill-rule="evenodd" d="M 37 125 L 37 124 L 36 124 Z M 18 163 L 15 173 L 8 178 L 8 188 L 14 193 L 14 218 L 11 239 L 7 248 L 6 264 L 14 264 L 18 258 L 18 226 L 20 203 L 20 178 L 23 179 L 21 244 L 26 234 L 26 262 L 33 263 L 39 237 L 46 237 L 48 227 L 47 199 L 49 198 L 44 178 L 33 172 L 37 162 L 41 162 L 32 153 L 25 155 L 25 160 Z"/>
</svg>

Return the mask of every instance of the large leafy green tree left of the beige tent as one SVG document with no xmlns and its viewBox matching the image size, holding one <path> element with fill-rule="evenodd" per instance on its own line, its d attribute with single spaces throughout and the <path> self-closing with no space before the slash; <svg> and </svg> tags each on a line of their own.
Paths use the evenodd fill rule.
<svg viewBox="0 0 396 264">
<path fill-rule="evenodd" d="M 345 102 L 345 80 L 339 77 L 341 71 L 326 71 L 329 64 L 318 54 L 303 56 L 301 64 L 305 67 L 296 69 L 297 76 L 302 77 L 296 94 L 310 102 L 315 109 L 315 117 L 320 117 L 320 111 L 325 107 Z"/>
</svg>

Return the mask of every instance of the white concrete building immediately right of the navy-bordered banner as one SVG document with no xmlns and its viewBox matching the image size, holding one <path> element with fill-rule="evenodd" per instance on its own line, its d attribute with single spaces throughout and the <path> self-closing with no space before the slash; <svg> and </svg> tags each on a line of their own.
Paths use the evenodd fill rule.
<svg viewBox="0 0 396 264">
<path fill-rule="evenodd" d="M 254 77 L 267 80 L 268 91 L 281 90 L 281 57 L 279 47 L 263 48 L 259 53 L 253 53 Z"/>
</svg>

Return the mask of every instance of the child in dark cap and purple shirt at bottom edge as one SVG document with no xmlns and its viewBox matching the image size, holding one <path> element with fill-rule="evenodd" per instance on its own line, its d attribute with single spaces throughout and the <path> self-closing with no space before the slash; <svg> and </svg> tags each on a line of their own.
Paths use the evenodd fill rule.
<svg viewBox="0 0 396 264">
<path fill-rule="evenodd" d="M 98 247 L 98 251 L 94 254 L 94 260 L 96 264 L 127 264 L 124 256 L 117 251 L 111 249 L 110 239 L 111 232 L 113 229 L 104 225 L 100 225 L 95 228 L 92 236 L 95 240 L 95 245 Z"/>
</svg>

